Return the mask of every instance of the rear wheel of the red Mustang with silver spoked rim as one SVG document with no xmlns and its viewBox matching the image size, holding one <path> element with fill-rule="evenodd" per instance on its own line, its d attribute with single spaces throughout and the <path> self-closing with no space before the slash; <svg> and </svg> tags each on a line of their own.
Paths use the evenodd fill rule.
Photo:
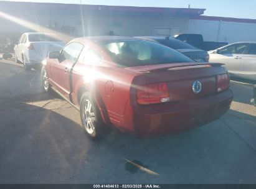
<svg viewBox="0 0 256 189">
<path fill-rule="evenodd" d="M 90 103 L 91 106 L 88 105 L 88 103 Z M 90 106 L 90 108 L 88 108 L 88 106 Z M 103 121 L 100 110 L 98 109 L 95 101 L 90 97 L 90 94 L 87 92 L 82 94 L 80 100 L 80 118 L 85 133 L 91 139 L 98 139 L 102 136 Z"/>
</svg>

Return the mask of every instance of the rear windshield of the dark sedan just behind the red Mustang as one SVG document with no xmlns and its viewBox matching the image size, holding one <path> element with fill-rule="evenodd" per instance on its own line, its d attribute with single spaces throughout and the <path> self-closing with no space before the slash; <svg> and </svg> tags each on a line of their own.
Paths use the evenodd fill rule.
<svg viewBox="0 0 256 189">
<path fill-rule="evenodd" d="M 156 39 L 157 42 L 160 44 L 166 45 L 167 47 L 174 48 L 174 49 L 194 49 L 196 47 L 193 47 L 192 45 L 186 44 L 185 42 L 182 42 L 181 40 L 177 39 Z"/>
</svg>

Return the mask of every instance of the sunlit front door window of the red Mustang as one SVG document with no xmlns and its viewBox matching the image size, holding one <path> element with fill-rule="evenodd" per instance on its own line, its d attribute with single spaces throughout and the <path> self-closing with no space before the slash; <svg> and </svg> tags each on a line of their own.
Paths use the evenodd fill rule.
<svg viewBox="0 0 256 189">
<path fill-rule="evenodd" d="M 78 42 L 72 42 L 62 49 L 60 53 L 60 62 L 64 60 L 70 60 L 71 62 L 77 62 L 77 58 L 83 49 L 83 45 Z"/>
</svg>

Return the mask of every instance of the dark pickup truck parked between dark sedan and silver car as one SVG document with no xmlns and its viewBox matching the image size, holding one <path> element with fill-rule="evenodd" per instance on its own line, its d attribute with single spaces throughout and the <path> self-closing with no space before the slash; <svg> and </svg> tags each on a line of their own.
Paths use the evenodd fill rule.
<svg viewBox="0 0 256 189">
<path fill-rule="evenodd" d="M 202 50 L 214 50 L 216 48 L 227 45 L 226 42 L 206 42 L 201 34 L 174 34 L 171 39 L 179 39 L 187 44 L 191 44 L 194 47 Z"/>
</svg>

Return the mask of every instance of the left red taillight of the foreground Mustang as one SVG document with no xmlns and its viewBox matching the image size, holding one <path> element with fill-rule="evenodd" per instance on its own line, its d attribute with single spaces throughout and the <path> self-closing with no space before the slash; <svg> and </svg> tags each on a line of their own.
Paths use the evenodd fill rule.
<svg viewBox="0 0 256 189">
<path fill-rule="evenodd" d="M 142 85 L 137 90 L 138 104 L 159 104 L 170 101 L 167 83 Z"/>
</svg>

